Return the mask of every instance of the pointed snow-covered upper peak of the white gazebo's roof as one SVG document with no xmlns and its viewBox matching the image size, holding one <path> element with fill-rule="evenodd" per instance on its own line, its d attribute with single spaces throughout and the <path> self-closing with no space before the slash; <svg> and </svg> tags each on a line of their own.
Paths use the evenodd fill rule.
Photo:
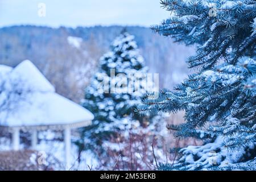
<svg viewBox="0 0 256 182">
<path fill-rule="evenodd" d="M 18 64 L 9 77 L 9 83 L 16 89 L 36 92 L 55 92 L 55 88 L 30 60 Z"/>
</svg>

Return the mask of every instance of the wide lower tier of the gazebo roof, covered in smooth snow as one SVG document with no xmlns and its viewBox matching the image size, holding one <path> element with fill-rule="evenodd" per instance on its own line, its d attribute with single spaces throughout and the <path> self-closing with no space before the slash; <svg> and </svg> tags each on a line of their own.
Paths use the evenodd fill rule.
<svg viewBox="0 0 256 182">
<path fill-rule="evenodd" d="M 59 130 L 69 125 L 72 128 L 90 125 L 93 114 L 56 93 L 30 93 L 26 100 L 18 101 L 17 110 L 1 111 L 1 125 L 21 127 L 26 130 L 36 127 Z"/>
</svg>

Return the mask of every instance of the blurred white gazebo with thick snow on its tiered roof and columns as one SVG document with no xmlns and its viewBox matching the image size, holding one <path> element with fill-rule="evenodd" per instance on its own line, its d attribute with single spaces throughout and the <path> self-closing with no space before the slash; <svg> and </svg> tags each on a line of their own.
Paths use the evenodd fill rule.
<svg viewBox="0 0 256 182">
<path fill-rule="evenodd" d="M 71 129 L 90 125 L 93 114 L 60 96 L 29 60 L 15 68 L 0 65 L 0 126 L 13 133 L 14 150 L 19 149 L 19 130 L 64 130 L 66 157 L 70 151 Z M 68 159 L 67 159 L 68 160 Z"/>
</svg>

